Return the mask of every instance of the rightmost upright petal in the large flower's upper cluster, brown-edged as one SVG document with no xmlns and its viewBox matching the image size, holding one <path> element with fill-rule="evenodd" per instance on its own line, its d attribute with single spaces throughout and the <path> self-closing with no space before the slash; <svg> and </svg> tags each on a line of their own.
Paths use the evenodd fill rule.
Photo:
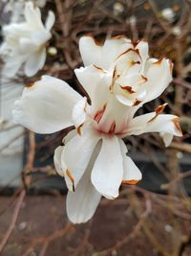
<svg viewBox="0 0 191 256">
<path fill-rule="evenodd" d="M 168 59 L 163 58 L 157 62 L 149 60 L 148 62 L 150 62 L 150 66 L 144 74 L 148 80 L 144 83 L 144 88 L 147 91 L 144 103 L 159 97 L 169 82 L 172 81 L 171 64 Z"/>
</svg>

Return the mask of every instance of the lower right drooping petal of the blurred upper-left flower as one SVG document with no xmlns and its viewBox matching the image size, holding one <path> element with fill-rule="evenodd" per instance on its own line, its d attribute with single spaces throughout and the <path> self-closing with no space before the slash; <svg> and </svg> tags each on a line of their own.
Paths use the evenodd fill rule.
<svg viewBox="0 0 191 256">
<path fill-rule="evenodd" d="M 46 49 L 43 48 L 40 51 L 32 53 L 25 64 L 25 74 L 28 77 L 35 75 L 40 70 L 46 60 Z"/>
</svg>

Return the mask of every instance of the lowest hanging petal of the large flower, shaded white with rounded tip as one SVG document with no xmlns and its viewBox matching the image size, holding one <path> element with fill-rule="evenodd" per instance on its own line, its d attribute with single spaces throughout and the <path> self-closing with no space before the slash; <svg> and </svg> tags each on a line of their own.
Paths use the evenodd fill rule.
<svg viewBox="0 0 191 256">
<path fill-rule="evenodd" d="M 66 200 L 66 210 L 70 221 L 81 223 L 89 221 L 96 212 L 101 195 L 91 182 L 91 167 L 80 179 L 75 192 L 69 191 Z"/>
</svg>

